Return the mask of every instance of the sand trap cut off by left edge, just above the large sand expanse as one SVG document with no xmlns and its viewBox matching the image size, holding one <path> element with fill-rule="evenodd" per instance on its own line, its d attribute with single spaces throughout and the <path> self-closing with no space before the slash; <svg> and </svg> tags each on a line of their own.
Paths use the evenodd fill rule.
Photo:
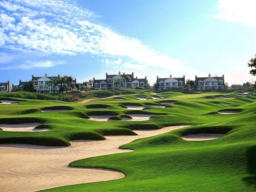
<svg viewBox="0 0 256 192">
<path fill-rule="evenodd" d="M 48 131 L 47 128 L 36 129 L 35 127 L 41 123 L 22 123 L 22 124 L 0 124 L 3 131 Z"/>
</svg>

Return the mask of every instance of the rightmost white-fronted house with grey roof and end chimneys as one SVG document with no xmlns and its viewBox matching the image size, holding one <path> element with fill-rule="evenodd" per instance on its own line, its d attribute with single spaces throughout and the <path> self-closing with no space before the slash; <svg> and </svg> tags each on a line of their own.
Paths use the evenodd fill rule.
<svg viewBox="0 0 256 192">
<path fill-rule="evenodd" d="M 209 74 L 208 77 L 197 77 L 196 76 L 196 86 L 197 90 L 207 90 L 207 89 L 224 89 L 224 75 L 222 77 L 211 77 Z"/>
</svg>

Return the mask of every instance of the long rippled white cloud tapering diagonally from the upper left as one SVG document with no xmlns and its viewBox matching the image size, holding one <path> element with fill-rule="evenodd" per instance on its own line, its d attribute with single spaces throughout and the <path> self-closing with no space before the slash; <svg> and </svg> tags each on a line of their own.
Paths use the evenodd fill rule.
<svg viewBox="0 0 256 192">
<path fill-rule="evenodd" d="M 126 59 L 123 63 L 131 67 L 185 70 L 180 60 L 103 26 L 97 22 L 99 16 L 72 0 L 3 0 L 0 7 L 0 47 L 44 55 L 92 54 Z"/>
</svg>

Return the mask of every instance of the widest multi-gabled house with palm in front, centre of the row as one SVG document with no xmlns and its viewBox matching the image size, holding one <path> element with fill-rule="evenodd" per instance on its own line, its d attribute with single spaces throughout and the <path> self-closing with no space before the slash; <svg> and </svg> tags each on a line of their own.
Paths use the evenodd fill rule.
<svg viewBox="0 0 256 192">
<path fill-rule="evenodd" d="M 106 89 L 118 89 L 118 88 L 143 88 L 144 85 L 148 84 L 147 77 L 139 79 L 137 76 L 134 78 L 134 73 L 127 74 L 130 80 L 126 80 L 122 77 L 121 72 L 117 75 L 108 75 L 106 73 L 106 79 L 96 80 L 93 78 L 93 88 L 96 90 L 106 90 Z M 118 83 L 117 83 L 118 80 Z"/>
</svg>

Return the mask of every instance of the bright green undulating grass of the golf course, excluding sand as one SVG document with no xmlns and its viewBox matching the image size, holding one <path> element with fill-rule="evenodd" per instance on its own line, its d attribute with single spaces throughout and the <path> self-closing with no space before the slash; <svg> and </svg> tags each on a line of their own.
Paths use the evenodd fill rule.
<svg viewBox="0 0 256 192">
<path fill-rule="evenodd" d="M 150 93 L 122 95 L 124 100 L 105 98 L 89 103 L 50 100 L 23 100 L 17 105 L 0 105 L 0 123 L 41 122 L 45 132 L 5 132 L 0 143 L 31 143 L 67 146 L 70 140 L 104 139 L 109 134 L 135 134 L 132 130 L 157 129 L 172 125 L 190 125 L 166 134 L 142 138 L 120 146 L 135 150 L 77 160 L 71 166 L 111 168 L 124 172 L 125 178 L 107 182 L 79 184 L 45 191 L 255 191 L 256 187 L 256 100 L 232 98 L 236 93 L 182 94 L 164 92 L 162 99 Z M 5 99 L 6 100 L 6 99 Z M 148 107 L 128 110 L 125 106 L 156 105 L 176 102 L 170 108 Z M 99 109 L 95 109 L 95 108 Z M 42 109 L 70 109 L 43 113 Z M 103 109 L 102 109 L 103 108 Z M 239 114 L 219 114 L 221 110 Z M 148 121 L 96 122 L 90 115 L 111 115 L 113 119 L 129 114 L 154 114 Z M 217 140 L 185 141 L 186 134 L 222 133 Z"/>
</svg>

